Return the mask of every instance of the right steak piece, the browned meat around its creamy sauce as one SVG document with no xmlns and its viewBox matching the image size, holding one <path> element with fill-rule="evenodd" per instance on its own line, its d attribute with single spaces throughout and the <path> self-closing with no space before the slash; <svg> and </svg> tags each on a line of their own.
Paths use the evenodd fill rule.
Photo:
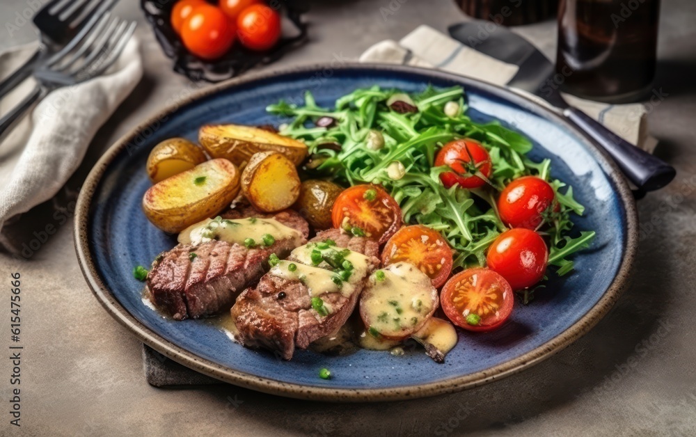
<svg viewBox="0 0 696 437">
<path fill-rule="evenodd" d="M 331 238 L 340 248 L 363 253 L 370 257 L 370 269 L 349 298 L 340 293 L 321 295 L 333 308 L 322 317 L 312 308 L 308 288 L 299 280 L 265 274 L 255 289 L 246 289 L 232 307 L 232 319 L 239 331 L 237 340 L 247 347 L 264 347 L 286 360 L 292 358 L 295 347 L 306 349 L 309 344 L 329 335 L 345 324 L 355 309 L 367 276 L 379 266 L 379 245 L 364 237 L 341 234 L 339 230 L 319 232 L 311 241 Z M 292 257 L 288 260 L 293 260 Z"/>
</svg>

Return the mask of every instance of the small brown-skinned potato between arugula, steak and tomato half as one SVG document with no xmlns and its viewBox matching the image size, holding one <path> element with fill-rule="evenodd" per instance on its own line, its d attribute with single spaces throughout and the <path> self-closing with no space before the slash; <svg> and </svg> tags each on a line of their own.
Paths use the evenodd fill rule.
<svg viewBox="0 0 696 437">
<path fill-rule="evenodd" d="M 331 211 L 342 186 L 325 180 L 306 180 L 300 186 L 300 196 L 293 205 L 315 230 L 329 229 Z"/>
</svg>

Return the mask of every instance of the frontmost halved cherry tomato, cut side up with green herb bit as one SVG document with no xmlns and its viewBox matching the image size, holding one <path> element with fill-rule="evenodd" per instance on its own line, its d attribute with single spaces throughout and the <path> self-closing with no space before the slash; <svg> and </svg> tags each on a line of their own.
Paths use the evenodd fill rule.
<svg viewBox="0 0 696 437">
<path fill-rule="evenodd" d="M 468 269 L 448 280 L 440 304 L 453 324 L 468 331 L 493 331 L 510 314 L 514 293 L 503 276 L 489 269 Z"/>
</svg>

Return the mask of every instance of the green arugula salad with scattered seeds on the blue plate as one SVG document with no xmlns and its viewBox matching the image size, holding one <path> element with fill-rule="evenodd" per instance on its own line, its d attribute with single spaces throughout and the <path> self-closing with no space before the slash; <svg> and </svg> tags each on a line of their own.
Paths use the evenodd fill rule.
<svg viewBox="0 0 696 437">
<path fill-rule="evenodd" d="M 281 101 L 267 111 L 287 118 L 280 134 L 308 146 L 310 159 L 302 168 L 307 177 L 342 186 L 383 186 L 401 207 L 404 223 L 438 230 L 449 241 L 455 269 L 487 265 L 489 246 L 512 227 L 501 219 L 500 193 L 525 176 L 545 180 L 555 194 L 534 230 L 548 244 L 548 265 L 557 275 L 573 269 L 570 255 L 587 248 L 595 235 L 574 229 L 573 216 L 585 208 L 574 199 L 572 186 L 551 176 L 551 160 L 530 159 L 532 142 L 500 122 L 473 121 L 459 86 L 429 86 L 417 94 L 361 88 L 340 97 L 333 108 L 318 106 L 307 92 L 301 105 Z M 482 145 L 486 159 L 475 159 L 467 148 L 454 164 L 438 165 L 443 147 L 463 138 Z M 445 184 L 447 173 L 459 183 Z M 472 177 L 480 186 L 461 186 Z"/>
</svg>

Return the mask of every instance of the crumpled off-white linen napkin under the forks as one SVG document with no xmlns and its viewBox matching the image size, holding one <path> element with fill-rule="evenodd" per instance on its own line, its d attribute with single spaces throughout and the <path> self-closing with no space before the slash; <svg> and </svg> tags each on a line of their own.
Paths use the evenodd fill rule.
<svg viewBox="0 0 696 437">
<path fill-rule="evenodd" d="M 0 78 L 13 72 L 35 47 L 0 54 Z M 8 218 L 58 193 L 77 170 L 97 130 L 142 76 L 139 42 L 132 37 L 105 74 L 49 93 L 0 143 L 0 230 Z M 26 96 L 31 82 L 0 100 L 0 114 Z"/>
</svg>

